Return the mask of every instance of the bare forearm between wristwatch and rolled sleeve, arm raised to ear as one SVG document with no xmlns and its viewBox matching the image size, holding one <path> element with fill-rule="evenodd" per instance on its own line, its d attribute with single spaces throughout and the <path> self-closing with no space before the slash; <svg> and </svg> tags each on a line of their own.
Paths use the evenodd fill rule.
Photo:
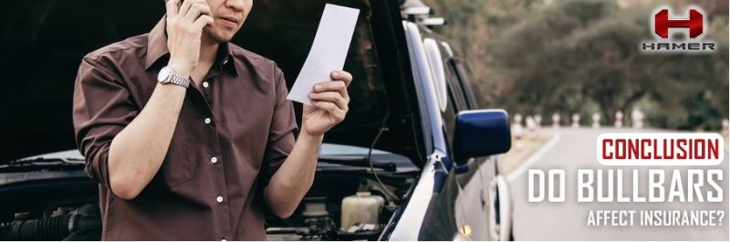
<svg viewBox="0 0 730 242">
<path fill-rule="evenodd" d="M 109 153 L 114 195 L 132 199 L 157 174 L 170 147 L 185 91 L 182 86 L 157 84 L 140 114 L 114 137 Z"/>
</svg>

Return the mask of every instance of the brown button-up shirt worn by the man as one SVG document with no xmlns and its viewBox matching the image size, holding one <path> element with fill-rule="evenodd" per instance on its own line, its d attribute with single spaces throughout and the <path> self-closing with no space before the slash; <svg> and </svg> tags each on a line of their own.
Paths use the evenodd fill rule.
<svg viewBox="0 0 730 242">
<path fill-rule="evenodd" d="M 263 188 L 294 147 L 297 122 L 276 63 L 234 44 L 220 45 L 203 88 L 187 90 L 151 183 L 131 200 L 111 193 L 110 143 L 144 109 L 168 58 L 162 20 L 78 68 L 73 121 L 99 182 L 102 239 L 266 240 Z"/>
</svg>

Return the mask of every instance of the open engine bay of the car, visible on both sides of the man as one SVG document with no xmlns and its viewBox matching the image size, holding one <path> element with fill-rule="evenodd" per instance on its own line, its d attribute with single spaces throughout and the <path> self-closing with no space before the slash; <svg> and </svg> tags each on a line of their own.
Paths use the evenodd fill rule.
<svg viewBox="0 0 730 242">
<path fill-rule="evenodd" d="M 377 240 L 391 224 L 418 169 L 372 169 L 320 161 L 295 213 L 266 216 L 268 240 Z M 373 174 L 372 171 L 376 171 Z M 82 171 L 0 174 L 0 240 L 99 240 L 98 184 Z M 21 182 L 22 181 L 22 182 Z M 336 184 L 336 185 L 333 185 Z"/>
</svg>

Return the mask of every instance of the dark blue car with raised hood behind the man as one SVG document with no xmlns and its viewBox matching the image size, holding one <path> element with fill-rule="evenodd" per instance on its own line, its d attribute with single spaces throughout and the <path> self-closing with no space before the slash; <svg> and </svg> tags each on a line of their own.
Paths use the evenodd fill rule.
<svg viewBox="0 0 730 242">
<path fill-rule="evenodd" d="M 326 133 L 295 214 L 266 214 L 267 237 L 511 239 L 511 196 L 497 169 L 511 146 L 508 115 L 483 109 L 468 64 L 432 31 L 443 19 L 428 6 L 256 1 L 232 42 L 275 60 L 291 88 L 326 2 L 360 9 L 344 68 L 355 77 L 349 114 Z M 0 153 L 0 239 L 98 240 L 99 184 L 83 172 L 71 124 L 76 70 L 90 51 L 148 32 L 163 5 L 43 0 L 0 11 L 8 79 L 0 129 L 12 141 Z"/>
</svg>

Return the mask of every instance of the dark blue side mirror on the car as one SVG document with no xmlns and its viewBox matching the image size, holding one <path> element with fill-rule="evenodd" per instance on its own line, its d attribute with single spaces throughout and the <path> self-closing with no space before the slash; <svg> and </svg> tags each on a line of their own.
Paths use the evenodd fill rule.
<svg viewBox="0 0 730 242">
<path fill-rule="evenodd" d="M 506 153 L 512 146 L 509 118 L 505 110 L 466 110 L 456 115 L 454 162 Z"/>
</svg>

